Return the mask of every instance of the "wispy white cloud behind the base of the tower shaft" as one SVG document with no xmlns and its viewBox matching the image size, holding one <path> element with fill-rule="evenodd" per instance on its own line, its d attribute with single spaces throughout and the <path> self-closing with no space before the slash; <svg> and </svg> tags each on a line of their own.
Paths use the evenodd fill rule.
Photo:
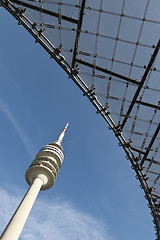
<svg viewBox="0 0 160 240">
<path fill-rule="evenodd" d="M 17 191 L 0 189 L 0 226 L 4 227 L 19 203 Z M 11 207 L 12 206 L 12 207 Z M 10 217 L 9 217 L 10 215 Z M 2 231 L 2 229 L 1 229 Z M 36 200 L 26 222 L 21 240 L 113 240 L 107 226 L 93 216 L 81 212 L 69 202 Z"/>
</svg>

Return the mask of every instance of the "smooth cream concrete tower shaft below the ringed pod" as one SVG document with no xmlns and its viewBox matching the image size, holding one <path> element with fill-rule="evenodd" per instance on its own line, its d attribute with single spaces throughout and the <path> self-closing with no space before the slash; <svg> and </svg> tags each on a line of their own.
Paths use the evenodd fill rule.
<svg viewBox="0 0 160 240">
<path fill-rule="evenodd" d="M 2 233 L 1 240 L 17 240 L 19 238 L 42 185 L 43 180 L 39 177 L 35 178 L 15 214 Z"/>
</svg>

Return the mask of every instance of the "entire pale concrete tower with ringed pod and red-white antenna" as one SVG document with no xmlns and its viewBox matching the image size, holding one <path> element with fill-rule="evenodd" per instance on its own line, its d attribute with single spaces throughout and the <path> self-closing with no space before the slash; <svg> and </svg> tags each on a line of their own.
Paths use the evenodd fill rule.
<svg viewBox="0 0 160 240">
<path fill-rule="evenodd" d="M 1 240 L 19 238 L 39 191 L 53 186 L 64 158 L 61 143 L 68 124 L 55 142 L 49 143 L 38 152 L 26 171 L 25 178 L 30 188 L 2 233 Z"/>
</svg>

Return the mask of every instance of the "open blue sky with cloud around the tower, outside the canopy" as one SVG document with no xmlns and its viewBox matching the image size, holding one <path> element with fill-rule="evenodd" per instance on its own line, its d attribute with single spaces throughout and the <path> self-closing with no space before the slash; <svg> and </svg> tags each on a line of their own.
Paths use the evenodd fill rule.
<svg viewBox="0 0 160 240">
<path fill-rule="evenodd" d="M 144 193 L 106 122 L 2 8 L 0 29 L 1 232 L 28 189 L 29 164 L 69 122 L 56 183 L 40 192 L 20 239 L 154 239 Z"/>
</svg>

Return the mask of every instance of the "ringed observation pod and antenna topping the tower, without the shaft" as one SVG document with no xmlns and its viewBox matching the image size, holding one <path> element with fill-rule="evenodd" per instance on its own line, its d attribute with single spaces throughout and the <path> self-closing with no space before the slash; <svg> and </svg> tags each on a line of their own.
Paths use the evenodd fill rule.
<svg viewBox="0 0 160 240">
<path fill-rule="evenodd" d="M 67 127 L 68 123 L 57 141 L 49 143 L 38 152 L 25 174 L 29 185 L 39 177 L 43 180 L 41 190 L 47 190 L 53 186 L 64 159 L 61 142 Z"/>
</svg>

